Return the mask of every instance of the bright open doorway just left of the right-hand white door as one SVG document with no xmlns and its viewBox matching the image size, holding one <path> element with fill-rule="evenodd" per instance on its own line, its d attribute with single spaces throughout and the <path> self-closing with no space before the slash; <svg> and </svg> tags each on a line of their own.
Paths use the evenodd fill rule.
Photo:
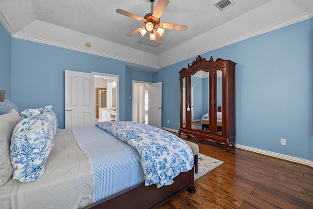
<svg viewBox="0 0 313 209">
<path fill-rule="evenodd" d="M 132 121 L 148 124 L 148 88 L 148 83 L 133 81 Z"/>
</svg>

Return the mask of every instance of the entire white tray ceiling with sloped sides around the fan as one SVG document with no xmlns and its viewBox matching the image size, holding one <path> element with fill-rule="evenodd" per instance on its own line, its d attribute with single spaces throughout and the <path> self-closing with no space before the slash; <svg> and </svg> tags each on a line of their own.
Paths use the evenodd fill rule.
<svg viewBox="0 0 313 209">
<path fill-rule="evenodd" d="M 162 68 L 313 16 L 313 0 L 234 0 L 223 12 L 218 1 L 170 0 L 161 22 L 188 29 L 165 29 L 156 47 L 126 37 L 143 23 L 115 12 L 144 17 L 150 0 L 0 0 L 0 21 L 13 37 Z"/>
</svg>

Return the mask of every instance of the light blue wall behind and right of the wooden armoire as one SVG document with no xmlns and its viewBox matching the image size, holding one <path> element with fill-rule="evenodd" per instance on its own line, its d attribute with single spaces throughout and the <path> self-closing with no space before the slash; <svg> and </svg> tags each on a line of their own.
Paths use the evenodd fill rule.
<svg viewBox="0 0 313 209">
<path fill-rule="evenodd" d="M 201 54 L 237 63 L 238 144 L 313 160 L 311 22 L 312 19 L 295 23 Z M 163 92 L 163 97 L 177 99 L 163 105 L 163 126 L 179 129 L 179 71 L 194 59 L 154 74 L 154 79 L 164 83 L 173 76 L 173 91 Z M 173 123 L 167 124 L 168 119 Z M 287 146 L 280 145 L 281 138 L 287 139 Z"/>
</svg>

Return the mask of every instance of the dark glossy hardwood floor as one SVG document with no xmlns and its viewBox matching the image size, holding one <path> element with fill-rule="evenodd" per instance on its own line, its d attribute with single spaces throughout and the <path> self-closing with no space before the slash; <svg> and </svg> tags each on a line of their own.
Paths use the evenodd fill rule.
<svg viewBox="0 0 313 209">
<path fill-rule="evenodd" d="M 206 140 L 200 153 L 224 161 L 159 209 L 313 209 L 313 168 Z"/>
</svg>

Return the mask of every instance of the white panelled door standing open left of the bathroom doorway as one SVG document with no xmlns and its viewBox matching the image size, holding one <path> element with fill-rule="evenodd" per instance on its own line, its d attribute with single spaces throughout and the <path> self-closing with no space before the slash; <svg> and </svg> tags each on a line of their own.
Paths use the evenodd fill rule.
<svg viewBox="0 0 313 209">
<path fill-rule="evenodd" d="M 65 128 L 94 125 L 93 75 L 65 70 Z"/>
</svg>

